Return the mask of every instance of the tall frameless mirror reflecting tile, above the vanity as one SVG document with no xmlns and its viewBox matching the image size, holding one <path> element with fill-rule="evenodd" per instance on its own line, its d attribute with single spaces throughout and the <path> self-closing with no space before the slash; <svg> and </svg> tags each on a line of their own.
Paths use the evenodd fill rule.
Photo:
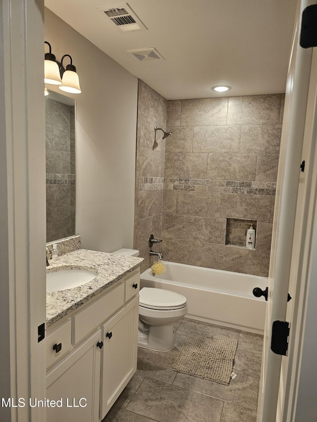
<svg viewBox="0 0 317 422">
<path fill-rule="evenodd" d="M 75 234 L 75 101 L 48 91 L 46 121 L 46 241 Z"/>
</svg>

